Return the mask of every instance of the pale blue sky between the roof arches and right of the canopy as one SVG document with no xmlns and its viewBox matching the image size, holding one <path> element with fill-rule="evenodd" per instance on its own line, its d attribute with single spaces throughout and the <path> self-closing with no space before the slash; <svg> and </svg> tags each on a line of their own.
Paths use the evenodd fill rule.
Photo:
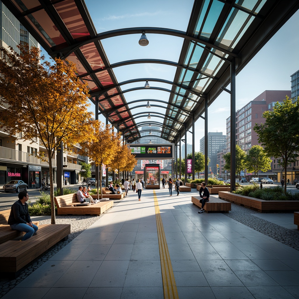
<svg viewBox="0 0 299 299">
<path fill-rule="evenodd" d="M 173 28 L 186 31 L 193 6 L 193 1 L 190 0 L 154 0 L 150 2 L 86 0 L 85 2 L 97 33 L 141 26 Z M 296 32 L 295 28 L 298 28 L 298 19 L 299 12 L 296 12 L 237 75 L 236 109 L 242 108 L 265 90 L 291 89 L 290 76 L 299 69 L 299 35 L 294 34 Z M 140 35 L 132 34 L 102 40 L 109 62 L 112 64 L 141 58 L 178 61 L 183 39 L 147 34 L 149 45 L 141 47 L 138 45 Z M 115 68 L 114 73 L 119 83 L 135 78 L 161 78 L 173 81 L 175 68 L 159 64 L 136 64 Z M 170 88 L 169 85 L 164 83 L 149 82 L 149 84 L 151 86 Z M 122 86 L 122 89 L 142 85 L 142 82 L 128 84 Z M 125 97 L 128 103 L 137 99 L 168 100 L 169 93 L 147 89 L 126 93 Z M 133 114 L 140 111 L 134 109 L 133 106 L 135 105 L 129 105 Z M 94 110 L 94 107 L 92 107 L 92 110 Z M 230 95 L 222 92 L 209 107 L 208 112 L 208 132 L 218 131 L 225 134 L 226 118 L 230 116 Z M 155 120 L 155 118 L 152 118 L 152 120 Z M 161 121 L 161 118 L 156 120 Z M 195 150 L 197 151 L 199 150 L 199 140 L 204 136 L 204 120 L 197 120 L 195 128 Z M 192 143 L 192 135 L 190 133 L 187 135 L 187 140 L 189 140 L 189 142 L 187 141 L 188 143 Z"/>
</svg>

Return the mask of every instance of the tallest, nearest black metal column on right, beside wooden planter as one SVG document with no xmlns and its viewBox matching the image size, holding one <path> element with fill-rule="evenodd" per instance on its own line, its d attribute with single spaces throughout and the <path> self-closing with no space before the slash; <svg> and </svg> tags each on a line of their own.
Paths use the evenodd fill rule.
<svg viewBox="0 0 299 299">
<path fill-rule="evenodd" d="M 231 62 L 231 191 L 236 190 L 236 58 Z"/>
</svg>

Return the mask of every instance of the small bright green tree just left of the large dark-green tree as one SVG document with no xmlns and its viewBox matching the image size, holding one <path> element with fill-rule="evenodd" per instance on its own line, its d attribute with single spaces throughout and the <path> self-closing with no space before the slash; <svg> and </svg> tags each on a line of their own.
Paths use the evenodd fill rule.
<svg viewBox="0 0 299 299">
<path fill-rule="evenodd" d="M 259 170 L 270 170 L 271 162 L 272 160 L 268 157 L 263 147 L 254 145 L 246 155 L 245 167 L 248 172 L 254 172 L 254 176 L 256 176 Z"/>
</svg>

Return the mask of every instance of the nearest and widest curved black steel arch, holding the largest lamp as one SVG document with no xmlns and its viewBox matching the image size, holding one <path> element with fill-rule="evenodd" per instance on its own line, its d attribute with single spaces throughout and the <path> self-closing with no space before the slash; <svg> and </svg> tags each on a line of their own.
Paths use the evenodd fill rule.
<svg viewBox="0 0 299 299">
<path fill-rule="evenodd" d="M 92 42 L 97 42 L 100 41 L 101 39 L 106 39 L 110 37 L 115 37 L 115 36 L 120 36 L 120 35 L 126 35 L 126 34 L 140 34 L 142 32 L 145 33 L 155 33 L 155 34 L 165 34 L 165 35 L 171 35 L 171 36 L 176 36 L 176 37 L 181 37 L 190 41 L 198 42 L 200 44 L 206 45 L 208 47 L 214 48 L 216 50 L 222 51 L 223 53 L 229 54 L 233 57 L 238 58 L 239 55 L 228 51 L 227 49 L 224 49 L 222 47 L 216 46 L 204 39 L 200 39 L 198 37 L 194 37 L 191 35 L 188 35 L 185 31 L 181 30 L 175 30 L 175 29 L 170 29 L 170 28 L 158 28 L 158 27 L 133 27 L 133 28 L 122 28 L 122 29 L 116 29 L 116 30 L 110 30 L 102 33 L 98 33 L 96 37 L 88 39 L 83 42 L 78 42 L 74 43 L 73 45 L 70 45 L 68 47 L 65 47 L 63 49 L 59 49 L 57 51 L 53 51 L 50 54 L 51 56 L 54 55 L 53 57 L 56 57 L 57 54 L 59 53 L 64 53 L 63 57 L 60 57 L 61 59 L 65 59 L 68 57 L 71 53 L 79 49 L 80 47 L 84 45 L 88 45 Z"/>
</svg>

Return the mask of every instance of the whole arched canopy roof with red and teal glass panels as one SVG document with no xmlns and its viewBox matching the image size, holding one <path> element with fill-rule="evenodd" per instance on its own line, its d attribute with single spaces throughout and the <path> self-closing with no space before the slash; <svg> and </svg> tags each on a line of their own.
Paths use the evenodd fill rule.
<svg viewBox="0 0 299 299">
<path fill-rule="evenodd" d="M 76 63 L 91 101 L 128 142 L 151 123 L 174 143 L 230 83 L 232 58 L 238 73 L 299 8 L 284 0 L 2 2 L 51 57 Z"/>
</svg>

